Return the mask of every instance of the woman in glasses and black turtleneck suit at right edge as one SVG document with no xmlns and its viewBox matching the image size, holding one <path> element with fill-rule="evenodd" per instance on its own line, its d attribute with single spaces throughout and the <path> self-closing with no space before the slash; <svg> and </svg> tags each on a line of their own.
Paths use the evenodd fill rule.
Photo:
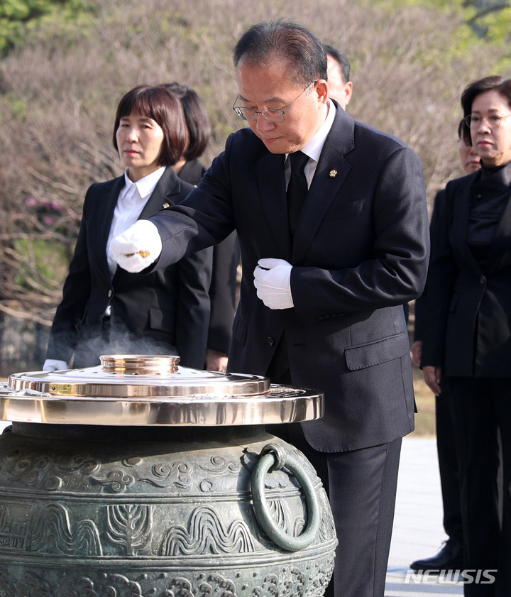
<svg viewBox="0 0 511 597">
<path fill-rule="evenodd" d="M 422 368 L 454 405 L 467 596 L 511 595 L 511 80 L 461 96 L 481 169 L 448 183 L 432 229 Z M 498 506 L 502 440 L 503 514 Z M 495 576 L 495 583 L 491 582 Z"/>
</svg>

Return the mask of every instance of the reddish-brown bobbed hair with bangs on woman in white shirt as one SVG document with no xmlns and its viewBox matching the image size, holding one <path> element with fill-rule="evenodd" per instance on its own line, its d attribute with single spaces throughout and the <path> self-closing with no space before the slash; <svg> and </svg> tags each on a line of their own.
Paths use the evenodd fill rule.
<svg viewBox="0 0 511 597">
<path fill-rule="evenodd" d="M 117 106 L 113 142 L 117 147 L 116 132 L 121 118 L 141 114 L 153 119 L 163 130 L 163 143 L 158 155 L 159 166 L 173 166 L 184 153 L 188 143 L 185 114 L 180 99 L 170 89 L 139 85 L 126 93 Z"/>
</svg>

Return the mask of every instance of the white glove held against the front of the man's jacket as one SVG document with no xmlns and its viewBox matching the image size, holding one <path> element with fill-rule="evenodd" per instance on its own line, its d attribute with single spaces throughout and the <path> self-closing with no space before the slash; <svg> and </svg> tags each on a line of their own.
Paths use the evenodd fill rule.
<svg viewBox="0 0 511 597">
<path fill-rule="evenodd" d="M 292 265 L 284 259 L 260 259 L 254 270 L 257 295 L 270 309 L 290 309 Z"/>
</svg>

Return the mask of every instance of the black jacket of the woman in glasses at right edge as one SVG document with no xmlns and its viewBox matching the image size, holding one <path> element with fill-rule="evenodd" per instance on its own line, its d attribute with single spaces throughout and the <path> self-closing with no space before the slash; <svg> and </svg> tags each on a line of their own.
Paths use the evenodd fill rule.
<svg viewBox="0 0 511 597">
<path fill-rule="evenodd" d="M 480 265 L 467 243 L 471 187 L 480 176 L 478 171 L 449 182 L 432 220 L 421 363 L 441 366 L 446 376 L 509 378 L 511 202 Z M 500 180 L 511 195 L 511 165 L 486 180 L 489 187 Z M 502 193 L 500 185 L 495 192 Z"/>
</svg>

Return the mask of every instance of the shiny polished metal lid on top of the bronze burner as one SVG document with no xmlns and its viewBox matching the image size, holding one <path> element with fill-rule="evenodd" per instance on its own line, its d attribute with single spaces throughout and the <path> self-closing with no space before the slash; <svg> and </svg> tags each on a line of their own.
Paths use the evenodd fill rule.
<svg viewBox="0 0 511 597">
<path fill-rule="evenodd" d="M 101 366 L 9 376 L 0 420 L 69 425 L 264 425 L 322 416 L 323 394 L 261 376 L 179 366 L 179 357 L 104 355 Z"/>
</svg>

